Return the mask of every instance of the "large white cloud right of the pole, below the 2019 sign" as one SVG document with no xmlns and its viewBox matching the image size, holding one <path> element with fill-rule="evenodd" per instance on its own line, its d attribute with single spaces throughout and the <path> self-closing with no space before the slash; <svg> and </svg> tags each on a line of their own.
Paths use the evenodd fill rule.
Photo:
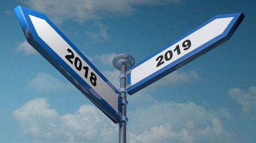
<svg viewBox="0 0 256 143">
<path fill-rule="evenodd" d="M 224 129 L 218 111 L 193 102 L 158 102 L 146 93 L 130 97 L 129 103 L 136 107 L 128 111 L 130 143 L 236 142 L 235 135 Z"/>
</svg>

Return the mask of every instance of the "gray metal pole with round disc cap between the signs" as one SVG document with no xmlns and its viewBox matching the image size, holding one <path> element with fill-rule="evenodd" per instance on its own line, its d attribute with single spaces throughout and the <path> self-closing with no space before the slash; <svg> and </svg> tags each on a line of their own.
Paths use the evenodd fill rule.
<svg viewBox="0 0 256 143">
<path fill-rule="evenodd" d="M 135 64 L 134 58 L 129 54 L 118 54 L 113 59 L 113 66 L 120 71 L 120 93 L 122 98 L 122 118 L 119 122 L 119 143 L 126 143 L 126 124 L 128 118 L 126 117 L 126 106 L 128 101 L 126 100 L 126 70 Z"/>
</svg>

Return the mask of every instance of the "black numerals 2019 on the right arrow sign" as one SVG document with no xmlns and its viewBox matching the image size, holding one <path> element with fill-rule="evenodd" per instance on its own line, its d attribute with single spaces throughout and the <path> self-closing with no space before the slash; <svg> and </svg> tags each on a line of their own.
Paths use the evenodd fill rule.
<svg viewBox="0 0 256 143">
<path fill-rule="evenodd" d="M 191 47 L 191 41 L 190 40 L 185 40 L 182 43 L 182 47 L 183 50 L 187 50 Z M 177 55 L 179 55 L 181 53 L 180 51 L 180 45 L 177 45 L 174 49 L 174 53 L 177 52 Z M 162 64 L 164 64 L 165 61 L 170 61 L 173 58 L 173 51 L 172 50 L 168 50 L 164 53 L 164 55 L 159 55 L 156 59 L 157 63 L 157 67 L 161 66 Z"/>
</svg>

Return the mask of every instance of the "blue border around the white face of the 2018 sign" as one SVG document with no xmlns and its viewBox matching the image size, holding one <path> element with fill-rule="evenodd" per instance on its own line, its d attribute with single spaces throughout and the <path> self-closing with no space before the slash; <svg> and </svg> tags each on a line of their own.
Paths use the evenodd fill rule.
<svg viewBox="0 0 256 143">
<path fill-rule="evenodd" d="M 121 95 L 119 91 L 106 79 L 99 70 L 84 56 L 76 46 L 53 24 L 53 22 L 45 15 L 31 9 L 17 6 L 14 12 L 18 18 L 19 24 L 27 38 L 27 41 L 32 45 L 44 58 L 49 61 L 61 74 L 63 74 L 75 87 L 88 97 L 106 116 L 114 123 L 121 120 Z M 63 38 L 86 63 L 113 89 L 118 98 L 118 110 L 112 108 L 100 95 L 98 95 L 88 83 L 86 83 L 60 56 L 58 56 L 36 33 L 35 28 L 29 15 L 46 20 L 54 30 Z M 78 82 L 77 82 L 78 81 Z"/>
</svg>

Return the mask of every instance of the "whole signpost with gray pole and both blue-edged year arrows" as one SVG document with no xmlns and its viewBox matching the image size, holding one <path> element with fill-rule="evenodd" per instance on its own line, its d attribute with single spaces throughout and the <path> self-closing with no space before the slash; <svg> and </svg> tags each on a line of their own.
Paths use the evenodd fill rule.
<svg viewBox="0 0 256 143">
<path fill-rule="evenodd" d="M 126 142 L 126 91 L 132 95 L 224 43 L 244 18 L 243 13 L 217 15 L 135 66 L 131 55 L 116 55 L 113 66 L 120 71 L 118 91 L 45 14 L 20 6 L 14 11 L 28 43 L 119 123 L 119 143 Z"/>
</svg>

